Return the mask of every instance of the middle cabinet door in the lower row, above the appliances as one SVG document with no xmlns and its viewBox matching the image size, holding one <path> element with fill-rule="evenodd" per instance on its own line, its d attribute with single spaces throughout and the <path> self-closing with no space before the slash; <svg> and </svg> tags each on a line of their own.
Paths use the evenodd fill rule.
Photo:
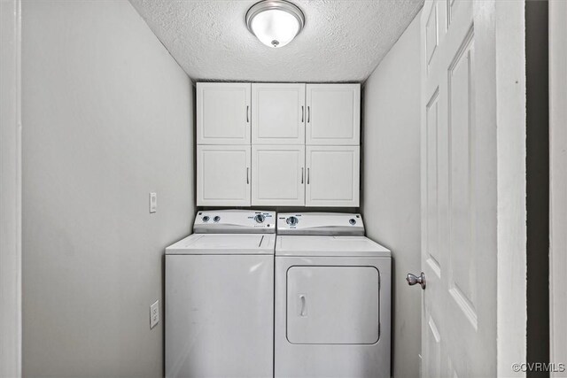
<svg viewBox="0 0 567 378">
<path fill-rule="evenodd" d="M 305 146 L 252 146 L 252 204 L 305 204 Z"/>
</svg>

